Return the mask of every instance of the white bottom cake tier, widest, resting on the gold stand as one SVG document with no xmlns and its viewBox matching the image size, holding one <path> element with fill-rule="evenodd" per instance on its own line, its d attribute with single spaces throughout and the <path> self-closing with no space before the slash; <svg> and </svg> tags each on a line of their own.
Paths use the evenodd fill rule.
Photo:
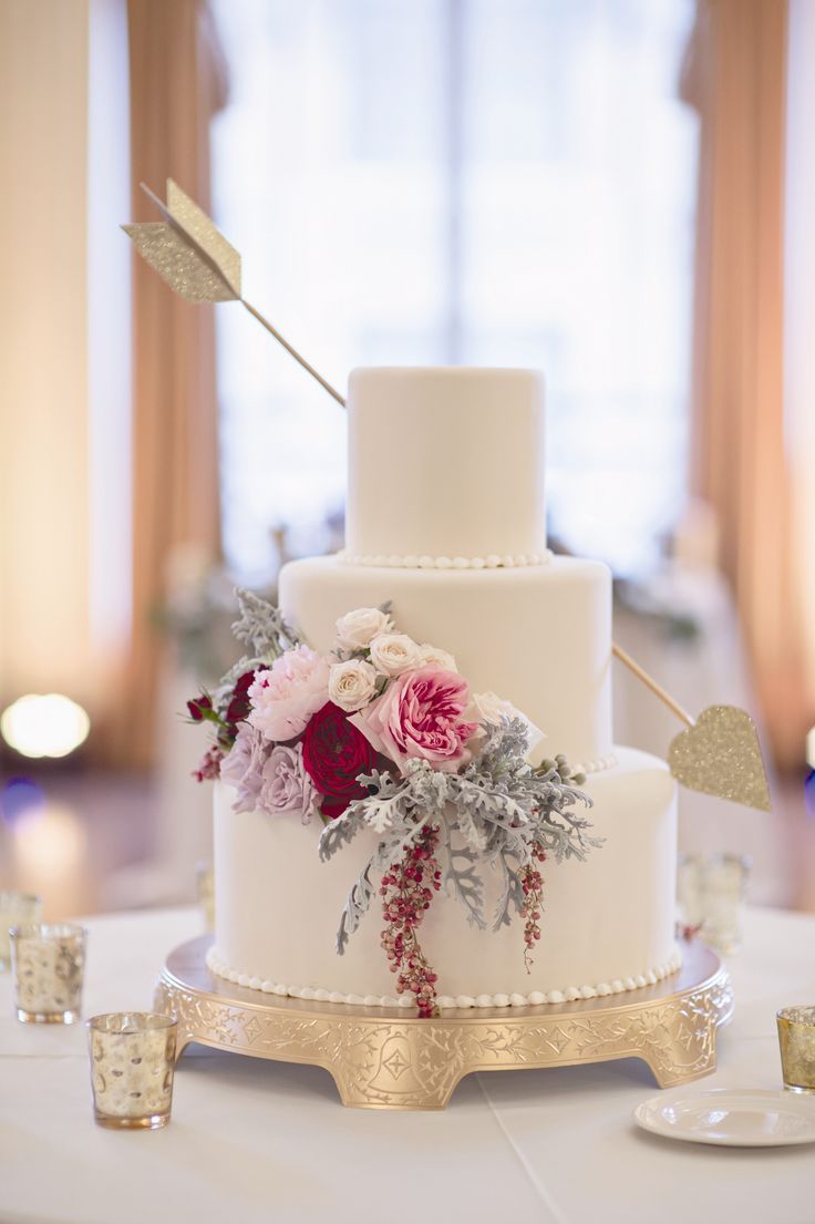
<svg viewBox="0 0 815 1224">
<path fill-rule="evenodd" d="M 666 764 L 631 748 L 590 776 L 594 832 L 605 838 L 585 862 L 543 867 L 541 940 L 524 962 L 520 918 L 498 931 L 467 923 L 439 894 L 421 927 L 438 973 L 441 1007 L 523 1006 L 611 995 L 653 984 L 679 968 L 674 939 L 675 783 Z M 214 797 L 215 942 L 209 968 L 278 995 L 394 1006 L 394 978 L 381 946 L 378 898 L 343 956 L 335 935 L 345 898 L 371 853 L 373 830 L 321 863 L 322 823 L 233 810 Z M 487 912 L 493 906 L 487 881 Z M 497 897 L 498 881 L 494 881 Z"/>
</svg>

